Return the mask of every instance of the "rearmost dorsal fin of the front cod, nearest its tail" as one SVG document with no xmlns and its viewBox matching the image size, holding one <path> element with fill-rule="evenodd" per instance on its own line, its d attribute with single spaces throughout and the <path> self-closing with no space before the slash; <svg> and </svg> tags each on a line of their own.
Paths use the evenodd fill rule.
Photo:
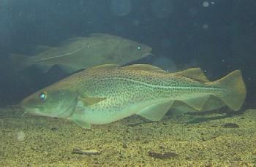
<svg viewBox="0 0 256 167">
<path fill-rule="evenodd" d="M 193 69 L 187 69 L 184 71 L 178 71 L 178 72 L 175 72 L 174 74 L 182 75 L 184 77 L 188 77 L 188 78 L 195 79 L 202 82 L 209 82 L 208 78 L 200 68 L 193 68 Z"/>
</svg>

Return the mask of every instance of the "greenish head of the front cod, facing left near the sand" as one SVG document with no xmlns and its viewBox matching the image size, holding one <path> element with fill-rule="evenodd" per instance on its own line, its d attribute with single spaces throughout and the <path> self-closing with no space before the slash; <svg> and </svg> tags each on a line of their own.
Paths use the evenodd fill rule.
<svg viewBox="0 0 256 167">
<path fill-rule="evenodd" d="M 69 117 L 77 103 L 77 93 L 54 86 L 31 94 L 21 101 L 25 113 L 46 117 Z"/>
</svg>

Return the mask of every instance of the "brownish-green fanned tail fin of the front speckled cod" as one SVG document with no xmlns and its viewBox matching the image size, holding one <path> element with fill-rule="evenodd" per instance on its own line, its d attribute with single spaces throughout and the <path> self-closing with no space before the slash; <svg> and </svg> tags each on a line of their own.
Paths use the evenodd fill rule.
<svg viewBox="0 0 256 167">
<path fill-rule="evenodd" d="M 241 109 L 246 98 L 246 86 L 240 70 L 232 71 L 230 74 L 227 74 L 227 76 L 217 81 L 209 82 L 209 84 L 226 88 L 227 92 L 218 94 L 217 96 L 229 106 L 230 109 L 234 111 Z"/>
</svg>

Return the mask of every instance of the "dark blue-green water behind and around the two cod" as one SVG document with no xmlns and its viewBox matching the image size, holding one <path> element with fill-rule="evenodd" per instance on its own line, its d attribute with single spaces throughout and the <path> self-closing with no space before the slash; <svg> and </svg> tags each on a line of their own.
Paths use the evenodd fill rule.
<svg viewBox="0 0 256 167">
<path fill-rule="evenodd" d="M 211 79 L 241 69 L 246 106 L 255 106 L 255 0 L 0 0 L 0 106 L 67 75 L 57 67 L 17 74 L 7 63 L 10 53 L 29 55 L 36 45 L 91 33 L 148 44 L 156 56 L 139 63 L 200 66 Z"/>
</svg>

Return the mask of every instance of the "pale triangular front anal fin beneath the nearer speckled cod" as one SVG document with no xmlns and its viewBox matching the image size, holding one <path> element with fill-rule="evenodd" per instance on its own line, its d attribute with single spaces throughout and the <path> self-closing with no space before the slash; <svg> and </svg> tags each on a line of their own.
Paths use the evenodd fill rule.
<svg viewBox="0 0 256 167">
<path fill-rule="evenodd" d="M 142 109 L 138 115 L 152 121 L 161 120 L 162 117 L 165 116 L 166 112 L 168 112 L 172 104 L 173 101 L 152 104 L 151 106 L 147 106 L 146 108 Z"/>
</svg>

